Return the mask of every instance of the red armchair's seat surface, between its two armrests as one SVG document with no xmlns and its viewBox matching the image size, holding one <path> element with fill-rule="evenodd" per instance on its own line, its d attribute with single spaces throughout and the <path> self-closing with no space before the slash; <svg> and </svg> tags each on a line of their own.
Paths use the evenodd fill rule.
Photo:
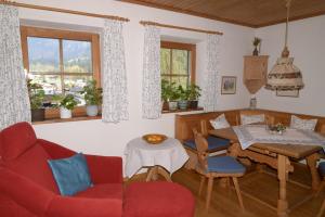
<svg viewBox="0 0 325 217">
<path fill-rule="evenodd" d="M 121 201 L 122 191 L 122 184 L 120 183 L 102 183 L 81 191 L 75 196 L 86 199 L 116 199 Z"/>
</svg>

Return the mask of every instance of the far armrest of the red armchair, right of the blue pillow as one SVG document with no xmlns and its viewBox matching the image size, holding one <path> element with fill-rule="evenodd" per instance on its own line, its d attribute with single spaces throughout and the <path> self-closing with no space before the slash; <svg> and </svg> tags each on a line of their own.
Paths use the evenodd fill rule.
<svg viewBox="0 0 325 217">
<path fill-rule="evenodd" d="M 93 183 L 122 183 L 122 158 L 86 155 Z"/>
</svg>

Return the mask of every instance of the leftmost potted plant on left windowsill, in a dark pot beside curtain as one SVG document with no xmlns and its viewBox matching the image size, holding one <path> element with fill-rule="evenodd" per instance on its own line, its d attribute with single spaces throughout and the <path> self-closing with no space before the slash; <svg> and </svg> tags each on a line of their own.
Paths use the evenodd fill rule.
<svg viewBox="0 0 325 217">
<path fill-rule="evenodd" d="M 31 79 L 27 79 L 27 88 L 30 101 L 31 122 L 42 122 L 46 119 L 46 110 L 43 107 L 46 92 L 43 87 L 32 82 Z"/>
</svg>

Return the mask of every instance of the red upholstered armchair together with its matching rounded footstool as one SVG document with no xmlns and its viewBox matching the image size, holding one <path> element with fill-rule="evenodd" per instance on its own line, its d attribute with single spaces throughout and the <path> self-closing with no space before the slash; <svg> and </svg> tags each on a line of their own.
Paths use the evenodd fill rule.
<svg viewBox="0 0 325 217">
<path fill-rule="evenodd" d="M 0 216 L 193 217 L 195 200 L 177 183 L 135 182 L 123 195 L 121 157 L 86 155 L 94 187 L 61 196 L 47 161 L 74 154 L 37 139 L 28 123 L 0 131 Z"/>
</svg>

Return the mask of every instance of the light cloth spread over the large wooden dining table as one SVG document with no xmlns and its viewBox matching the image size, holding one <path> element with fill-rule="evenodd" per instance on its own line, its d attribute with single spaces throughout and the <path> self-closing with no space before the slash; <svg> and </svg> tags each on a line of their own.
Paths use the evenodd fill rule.
<svg viewBox="0 0 325 217">
<path fill-rule="evenodd" d="M 243 150 L 255 143 L 321 145 L 325 150 L 325 138 L 311 130 L 287 128 L 283 135 L 271 133 L 265 125 L 233 127 Z"/>
</svg>

